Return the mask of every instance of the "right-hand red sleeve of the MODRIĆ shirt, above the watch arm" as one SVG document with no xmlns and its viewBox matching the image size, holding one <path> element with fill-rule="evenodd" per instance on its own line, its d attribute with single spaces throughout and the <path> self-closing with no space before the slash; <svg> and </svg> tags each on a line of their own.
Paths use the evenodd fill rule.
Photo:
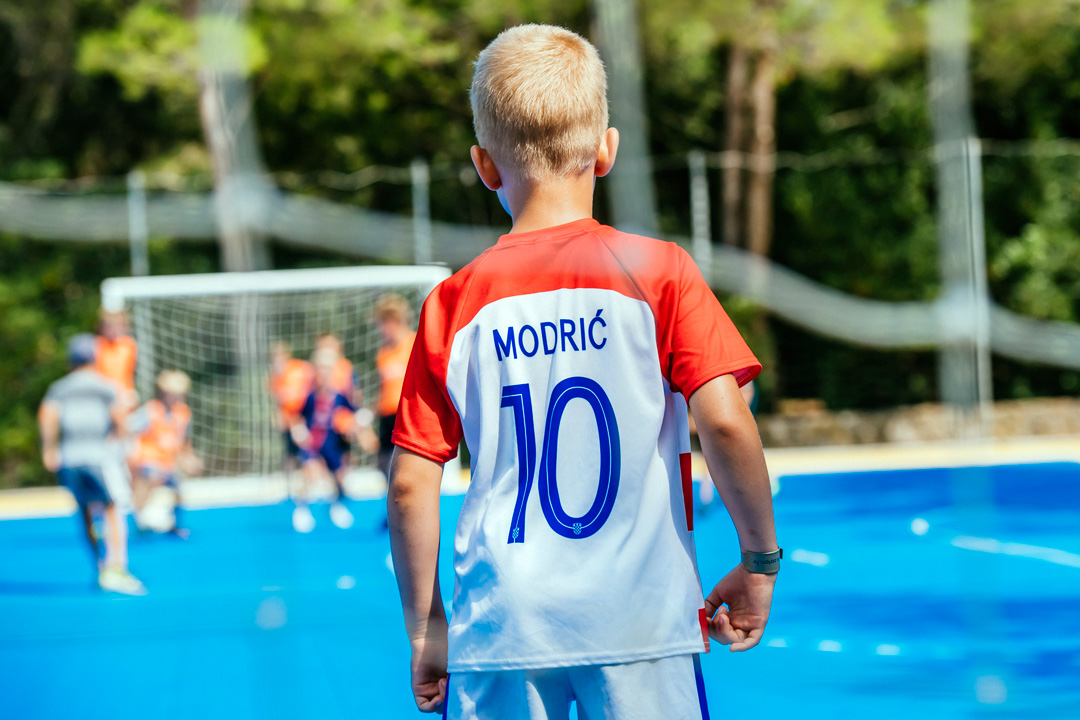
<svg viewBox="0 0 1080 720">
<path fill-rule="evenodd" d="M 723 375 L 734 375 L 740 386 L 745 385 L 761 371 L 761 364 L 690 256 L 677 246 L 673 252 L 674 282 L 664 284 L 658 318 L 664 377 L 687 398 Z"/>
</svg>

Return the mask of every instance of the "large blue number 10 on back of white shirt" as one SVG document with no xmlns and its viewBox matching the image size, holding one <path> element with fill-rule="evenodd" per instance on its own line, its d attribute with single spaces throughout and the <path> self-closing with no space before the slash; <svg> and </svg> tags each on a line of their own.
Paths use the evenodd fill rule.
<svg viewBox="0 0 1080 720">
<path fill-rule="evenodd" d="M 568 515 L 558 499 L 558 430 L 567 404 L 581 398 L 589 403 L 596 419 L 599 435 L 600 477 L 592 506 L 580 517 Z M 517 438 L 517 500 L 511 519 L 508 543 L 525 542 L 525 506 L 532 491 L 537 466 L 536 425 L 532 421 L 532 394 L 528 384 L 502 389 L 501 407 L 514 410 L 514 434 Z M 589 538 L 599 530 L 611 514 L 619 492 L 622 453 L 619 449 L 619 425 L 607 393 L 595 380 L 575 377 L 563 380 L 552 390 L 544 422 L 543 448 L 540 453 L 540 507 L 551 529 L 564 538 Z"/>
</svg>

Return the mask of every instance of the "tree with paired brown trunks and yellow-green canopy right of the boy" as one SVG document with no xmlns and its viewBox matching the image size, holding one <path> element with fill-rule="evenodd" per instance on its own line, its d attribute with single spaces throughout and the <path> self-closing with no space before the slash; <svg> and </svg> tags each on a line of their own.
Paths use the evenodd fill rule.
<svg viewBox="0 0 1080 720">
<path fill-rule="evenodd" d="M 881 68 L 910 36 L 913 13 L 889 0 L 676 0 L 649 9 L 646 36 L 679 55 L 728 47 L 723 237 L 769 255 L 778 86 L 799 74 Z"/>
</svg>

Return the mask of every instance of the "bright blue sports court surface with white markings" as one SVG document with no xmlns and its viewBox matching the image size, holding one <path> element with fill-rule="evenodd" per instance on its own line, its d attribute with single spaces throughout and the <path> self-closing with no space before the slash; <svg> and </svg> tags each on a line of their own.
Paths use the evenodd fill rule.
<svg viewBox="0 0 1080 720">
<path fill-rule="evenodd" d="M 0 522 L 0 718 L 421 717 L 382 502 L 353 508 L 190 512 L 188 542 L 133 536 L 145 598 L 92 585 L 75 519 Z M 1080 465 L 784 477 L 777 516 L 768 644 L 703 658 L 713 718 L 1080 718 Z M 711 585 L 723 508 L 697 539 Z"/>
</svg>

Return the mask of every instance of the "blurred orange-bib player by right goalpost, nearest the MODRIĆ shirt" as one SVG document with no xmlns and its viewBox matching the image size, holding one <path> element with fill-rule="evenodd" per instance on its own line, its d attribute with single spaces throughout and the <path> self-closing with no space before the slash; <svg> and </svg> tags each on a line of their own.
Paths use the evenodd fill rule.
<svg viewBox="0 0 1080 720">
<path fill-rule="evenodd" d="M 375 355 L 379 370 L 379 470 L 387 474 L 393 454 L 394 421 L 402 398 L 405 370 L 413 353 L 416 331 L 411 328 L 411 311 L 400 295 L 383 295 L 375 304 L 375 324 L 382 336 L 382 347 Z"/>
</svg>

